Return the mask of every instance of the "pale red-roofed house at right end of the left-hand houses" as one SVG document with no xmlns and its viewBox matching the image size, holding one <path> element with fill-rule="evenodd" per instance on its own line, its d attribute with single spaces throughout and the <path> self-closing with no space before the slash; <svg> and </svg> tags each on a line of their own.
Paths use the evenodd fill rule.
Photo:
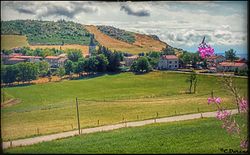
<svg viewBox="0 0 250 155">
<path fill-rule="evenodd" d="M 45 61 L 49 63 L 50 67 L 57 68 L 64 66 L 67 58 L 64 56 L 47 56 L 45 57 Z"/>
</svg>

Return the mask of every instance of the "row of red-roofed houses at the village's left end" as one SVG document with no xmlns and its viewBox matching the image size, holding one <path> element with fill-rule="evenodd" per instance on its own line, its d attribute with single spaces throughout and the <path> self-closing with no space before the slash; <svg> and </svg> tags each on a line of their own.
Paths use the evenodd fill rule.
<svg viewBox="0 0 250 155">
<path fill-rule="evenodd" d="M 40 56 L 26 56 L 22 53 L 12 53 L 10 55 L 1 54 L 3 64 L 13 65 L 20 62 L 40 62 L 43 60 Z M 50 67 L 57 68 L 64 66 L 64 63 L 67 61 L 66 54 L 60 54 L 58 56 L 47 56 L 44 58 L 46 62 L 49 63 Z"/>
</svg>

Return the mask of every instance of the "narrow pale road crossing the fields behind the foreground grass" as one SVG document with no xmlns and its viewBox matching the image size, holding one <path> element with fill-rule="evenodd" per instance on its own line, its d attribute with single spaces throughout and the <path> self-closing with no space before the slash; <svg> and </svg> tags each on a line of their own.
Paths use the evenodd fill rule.
<svg viewBox="0 0 250 155">
<path fill-rule="evenodd" d="M 236 114 L 238 112 L 237 109 L 233 109 L 229 111 L 231 111 L 232 114 Z M 143 126 L 143 125 L 152 124 L 152 123 L 183 121 L 183 120 L 190 120 L 190 119 L 201 118 L 201 117 L 215 117 L 215 116 L 216 116 L 216 112 L 205 112 L 205 113 L 197 113 L 197 114 L 164 117 L 164 118 L 158 118 L 158 119 L 150 119 L 150 120 L 144 120 L 144 121 L 125 122 L 125 123 L 120 123 L 116 125 L 106 125 L 106 126 L 100 126 L 100 127 L 94 127 L 94 128 L 81 129 L 81 134 L 109 131 L 109 130 L 124 128 L 124 127 Z M 51 134 L 51 135 L 45 135 L 45 136 L 39 136 L 39 137 L 33 137 L 33 138 L 27 138 L 27 139 L 8 141 L 8 142 L 3 142 L 3 149 L 9 148 L 9 147 L 32 145 L 32 144 L 36 144 L 40 142 L 76 136 L 78 134 L 79 134 L 79 131 L 74 130 L 74 131 L 62 132 L 58 134 Z"/>
</svg>

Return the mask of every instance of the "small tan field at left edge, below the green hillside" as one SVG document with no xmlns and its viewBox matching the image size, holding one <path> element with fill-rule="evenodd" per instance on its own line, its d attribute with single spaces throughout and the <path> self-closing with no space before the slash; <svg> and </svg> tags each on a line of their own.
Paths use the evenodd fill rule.
<svg viewBox="0 0 250 155">
<path fill-rule="evenodd" d="M 28 46 L 27 37 L 20 35 L 1 35 L 1 49 Z"/>
</svg>

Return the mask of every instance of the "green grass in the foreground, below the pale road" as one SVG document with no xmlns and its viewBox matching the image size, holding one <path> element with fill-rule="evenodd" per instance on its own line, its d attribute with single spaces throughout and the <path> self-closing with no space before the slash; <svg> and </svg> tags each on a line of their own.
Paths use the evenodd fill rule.
<svg viewBox="0 0 250 155">
<path fill-rule="evenodd" d="M 246 119 L 237 117 L 241 123 Z M 4 150 L 4 153 L 224 153 L 221 149 L 242 151 L 240 138 L 221 128 L 221 121 L 203 118 L 123 128 L 42 142 Z"/>
</svg>

